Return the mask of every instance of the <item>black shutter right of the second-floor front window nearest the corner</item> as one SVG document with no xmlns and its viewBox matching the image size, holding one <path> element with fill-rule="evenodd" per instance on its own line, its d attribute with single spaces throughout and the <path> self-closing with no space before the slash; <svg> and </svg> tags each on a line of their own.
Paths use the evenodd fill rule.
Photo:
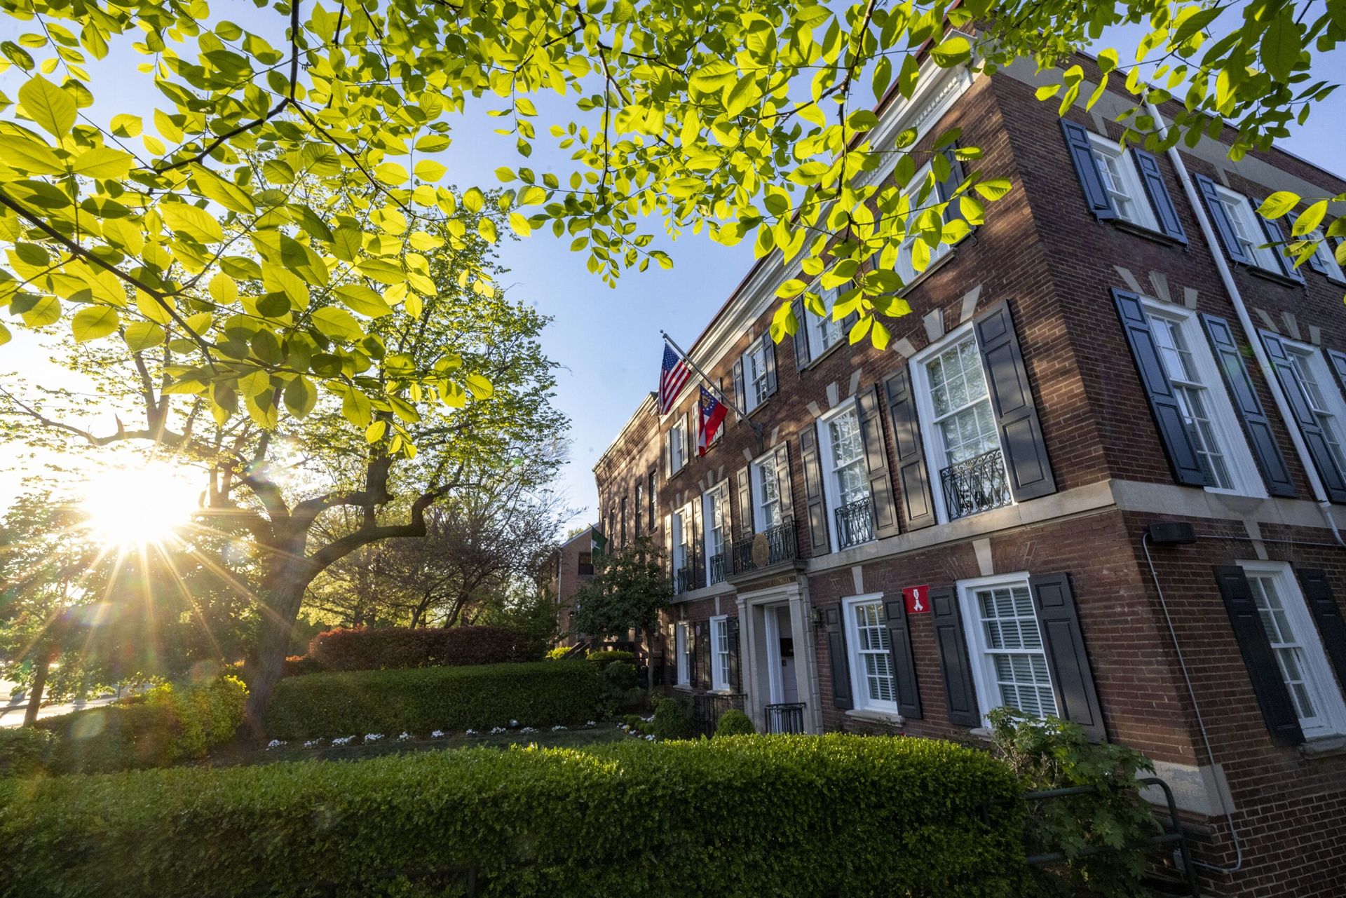
<svg viewBox="0 0 1346 898">
<path fill-rule="evenodd" d="M 1032 404 L 1028 370 L 1019 351 L 1008 303 L 996 303 L 976 318 L 973 329 L 987 372 L 991 408 L 1000 431 L 1000 451 L 1010 471 L 1010 491 L 1016 502 L 1057 491 L 1047 460 L 1047 442 Z"/>
</svg>

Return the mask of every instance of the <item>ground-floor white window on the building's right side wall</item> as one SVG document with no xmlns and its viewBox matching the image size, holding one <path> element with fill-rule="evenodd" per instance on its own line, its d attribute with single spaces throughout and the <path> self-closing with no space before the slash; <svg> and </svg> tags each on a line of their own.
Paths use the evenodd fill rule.
<svg viewBox="0 0 1346 898">
<path fill-rule="evenodd" d="M 1346 732 L 1346 703 L 1289 567 L 1240 561 L 1306 739 Z"/>
</svg>

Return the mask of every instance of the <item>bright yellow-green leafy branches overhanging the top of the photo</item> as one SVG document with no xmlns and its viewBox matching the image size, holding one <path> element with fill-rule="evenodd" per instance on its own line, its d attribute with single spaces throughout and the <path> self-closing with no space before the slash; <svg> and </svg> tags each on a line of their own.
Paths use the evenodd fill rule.
<svg viewBox="0 0 1346 898">
<path fill-rule="evenodd" d="M 1073 62 L 1105 27 L 1136 23 L 1136 62 L 1098 57 L 1104 79 L 1136 96 L 1129 137 L 1159 144 L 1140 101 L 1175 98 L 1168 143 L 1224 118 L 1238 156 L 1337 86 L 1311 63 L 1346 35 L 1346 5 L 1287 0 L 256 1 L 241 24 L 219 15 L 237 5 L 206 0 L 0 0 L 20 31 L 0 66 L 22 73 L 0 117 L 0 307 L 74 341 L 190 357 L 166 366 L 168 390 L 219 421 L 272 429 L 331 394 L 394 454 L 415 451 L 394 431 L 421 403 L 490 392 L 452 354 L 406 364 L 371 329 L 421 318 L 431 258 L 470 237 L 460 210 L 495 203 L 521 236 L 568 237 L 608 281 L 670 264 L 651 248 L 654 219 L 673 236 L 751 240 L 800 260 L 782 298 L 825 311 L 820 288 L 849 285 L 833 316 L 857 312 L 852 342 L 882 349 L 883 319 L 909 311 L 892 271 L 902 241 L 921 271 L 1010 188 L 962 145 L 968 174 L 938 195 L 938 151 L 960 135 L 919 149 L 911 132 L 876 140 L 871 106 L 890 92 L 910 98 L 938 67 Z M 144 57 L 139 74 L 117 65 L 128 51 Z M 1158 86 L 1141 63 L 1159 65 Z M 136 81 L 155 97 L 148 120 L 113 112 Z M 1092 102 L 1102 85 L 1071 65 L 1040 97 L 1065 108 L 1085 89 Z M 455 117 L 483 106 L 522 158 L 498 170 L 498 194 L 444 182 Z M 546 139 L 568 171 L 528 167 Z M 871 180 L 892 155 L 892 179 Z M 316 191 L 299 202 L 297 183 Z M 961 219 L 945 223 L 950 202 Z M 495 218 L 476 215 L 474 237 L 495 241 Z M 444 221 L 447 236 L 432 226 Z M 495 289 L 472 265 L 459 277 Z M 783 303 L 773 334 L 797 324 Z"/>
</svg>

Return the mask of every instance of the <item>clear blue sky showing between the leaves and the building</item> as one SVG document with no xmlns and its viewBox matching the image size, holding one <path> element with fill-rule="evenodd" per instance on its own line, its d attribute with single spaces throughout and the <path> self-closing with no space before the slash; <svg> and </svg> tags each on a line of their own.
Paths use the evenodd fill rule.
<svg viewBox="0 0 1346 898">
<path fill-rule="evenodd" d="M 5 24 L 11 26 L 5 31 L 15 31 L 12 23 Z M 4 39 L 13 36 L 16 34 L 0 35 Z M 1102 46 L 1121 47 L 1124 58 L 1135 47 L 1131 34 L 1109 38 L 1101 42 Z M 1337 53 L 1324 59 L 1323 71 L 1341 71 L 1343 66 L 1346 54 Z M 12 73 L 0 77 L 0 89 L 13 96 Z M 94 93 L 100 100 L 106 96 L 97 85 Z M 117 104 L 113 112 L 145 114 L 153 97 L 118 96 L 113 102 Z M 538 102 L 538 106 L 541 121 L 546 121 L 551 112 L 564 114 L 563 121 L 575 117 L 573 110 L 568 112 L 555 100 Z M 1343 117 L 1346 97 L 1337 94 L 1316 109 L 1304 127 L 1295 128 L 1283 145 L 1319 166 L 1339 166 Z M 455 123 L 455 141 L 446 153 L 447 182 L 460 187 L 493 186 L 498 183 L 493 174 L 498 166 L 520 164 L 513 137 L 491 133 L 498 123 L 483 116 Z M 545 135 L 545 128 L 540 131 Z M 538 171 L 568 172 L 569 160 L 564 153 L 549 152 L 548 144 L 544 136 L 530 164 Z M 661 230 L 658 222 L 650 223 Z M 685 236 L 676 242 L 661 240 L 656 245 L 673 256 L 674 267 L 627 272 L 611 289 L 588 273 L 586 256 L 571 253 L 568 244 L 568 237 L 556 240 L 549 232 L 537 233 L 524 241 L 506 241 L 501 257 L 510 269 L 503 277 L 509 295 L 553 318 L 544 335 L 544 347 L 563 366 L 556 404 L 571 417 L 572 448 L 571 460 L 561 473 L 561 489 L 580 512 L 573 521 L 577 524 L 588 520 L 596 505 L 594 463 L 657 381 L 662 351 L 660 330 L 668 330 L 682 346 L 689 346 L 744 276 L 752 264 L 752 252 L 750 242 L 725 248 L 704 236 Z M 50 370 L 44 357 L 35 341 L 16 333 L 15 342 L 0 349 L 0 377 L 20 370 L 42 374 Z M 13 459 L 12 454 L 7 455 Z M 23 474 L 22 470 L 0 471 L 0 502 L 7 502 L 19 489 Z"/>
</svg>

